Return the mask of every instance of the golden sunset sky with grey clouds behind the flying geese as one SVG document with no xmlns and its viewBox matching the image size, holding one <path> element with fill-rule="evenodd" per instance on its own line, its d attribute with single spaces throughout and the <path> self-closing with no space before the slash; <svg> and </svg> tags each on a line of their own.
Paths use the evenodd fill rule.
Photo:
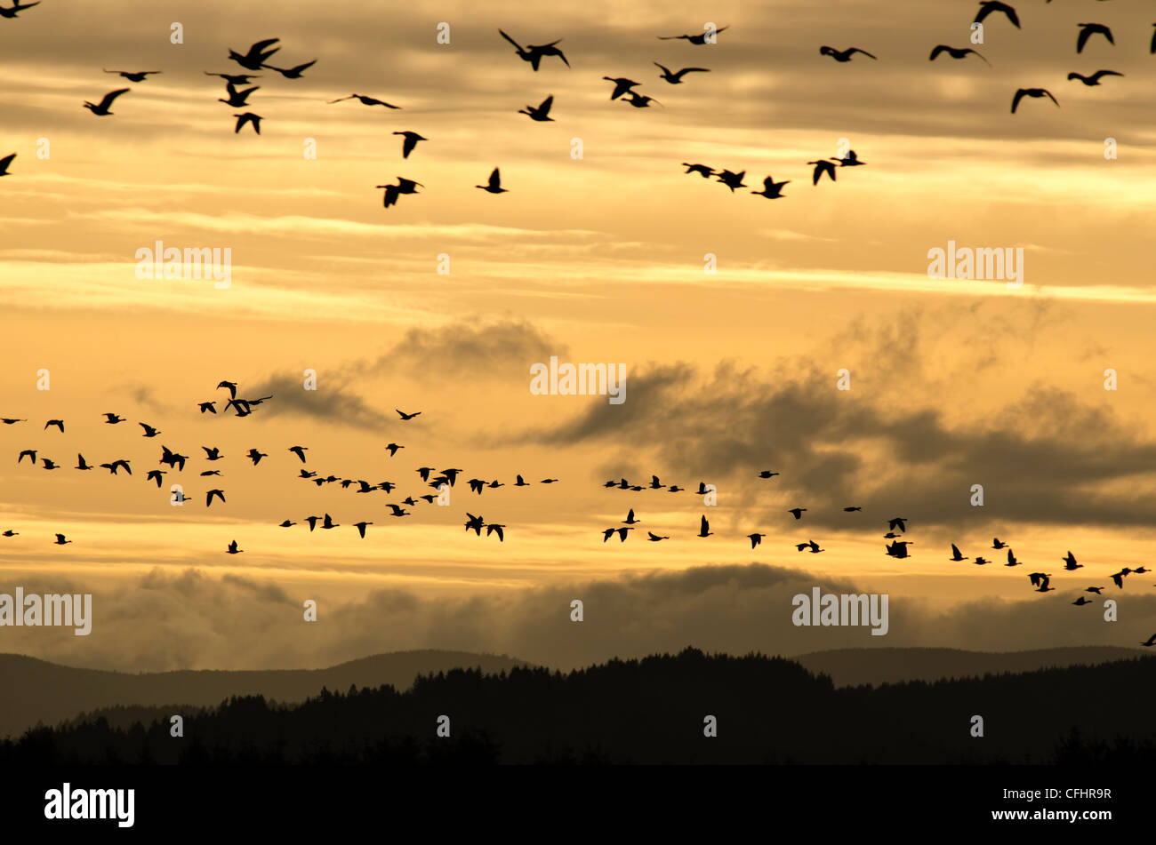
<svg viewBox="0 0 1156 845">
<path fill-rule="evenodd" d="M 0 651 L 135 671 L 406 648 L 570 666 L 687 644 L 1138 644 L 1156 578 L 1121 591 L 1107 576 L 1154 540 L 1153 16 L 1126 0 L 1015 6 L 1022 29 L 992 15 L 983 44 L 962 0 L 883 15 L 851 0 L 532 14 L 44 0 L 0 20 L 0 157 L 17 154 L 0 179 L 0 416 L 27 419 L 0 426 L 0 528 L 17 532 L 0 537 L 0 592 L 92 592 L 96 613 L 88 637 L 0 628 Z M 1077 54 L 1084 21 L 1116 45 L 1096 36 Z M 716 44 L 658 39 L 709 23 L 727 27 Z M 562 38 L 569 67 L 547 57 L 535 73 L 499 28 Z M 243 73 L 228 51 L 274 37 L 273 65 L 317 63 L 298 80 L 264 69 L 245 109 L 215 102 L 223 81 L 205 72 Z M 936 44 L 991 66 L 929 62 Z M 655 61 L 710 72 L 672 85 Z M 1066 80 L 1096 69 L 1124 76 Z M 603 76 L 659 105 L 612 102 Z M 112 115 L 82 107 L 121 87 Z M 1037 87 L 1059 106 L 1011 114 L 1016 89 Z M 401 107 L 328 103 L 350 92 Z M 553 122 L 518 113 L 547 96 Z M 246 110 L 260 135 L 234 132 Z M 401 130 L 428 139 L 407 159 Z M 808 162 L 845 148 L 866 165 L 809 184 Z M 746 171 L 747 187 L 683 162 Z M 494 167 L 509 193 L 474 187 Z M 790 180 L 781 199 L 750 194 L 766 175 Z M 383 208 L 375 186 L 398 178 L 422 187 Z M 229 249 L 230 285 L 139 278 L 138 250 L 158 240 Z M 1022 249 L 1022 286 L 929 278 L 949 241 Z M 532 394 L 551 356 L 622 364 L 625 401 Z M 273 398 L 223 413 L 221 380 Z M 221 413 L 198 411 L 209 399 Z M 53 418 L 64 433 L 42 428 Z M 390 442 L 405 447 L 392 458 Z M 143 476 L 161 443 L 192 459 L 158 488 Z M 17 464 L 22 449 L 62 469 Z M 75 471 L 77 453 L 133 474 Z M 317 487 L 303 466 L 399 488 Z M 391 517 L 387 502 L 432 492 L 418 466 L 464 469 L 450 506 Z M 689 489 L 602 486 L 652 474 Z M 476 495 L 473 477 L 505 486 Z M 717 504 L 690 492 L 699 481 Z M 191 501 L 170 504 L 171 483 Z M 206 508 L 212 487 L 227 502 Z M 630 538 L 603 544 L 630 508 Z M 504 541 L 465 531 L 467 511 Z M 325 513 L 340 528 L 279 528 Z M 895 516 L 903 560 L 884 554 Z M 373 523 L 365 539 L 357 521 Z M 751 532 L 766 534 L 755 549 Z M 993 537 L 1024 566 L 999 566 Z M 810 539 L 825 551 L 796 552 Z M 951 543 L 992 564 L 948 561 Z M 1057 591 L 1035 593 L 1029 571 Z M 887 592 L 889 634 L 795 628 L 791 596 L 813 585 Z M 1090 585 L 1110 588 L 1118 622 L 1099 599 L 1070 606 Z"/>
</svg>

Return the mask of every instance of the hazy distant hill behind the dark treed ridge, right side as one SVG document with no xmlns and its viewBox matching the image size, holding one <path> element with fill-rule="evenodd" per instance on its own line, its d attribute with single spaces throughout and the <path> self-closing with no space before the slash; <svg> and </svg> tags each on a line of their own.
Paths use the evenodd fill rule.
<svg viewBox="0 0 1156 845">
<path fill-rule="evenodd" d="M 1005 672 L 1094 666 L 1133 657 L 1156 657 L 1143 649 L 1089 645 L 1037 651 L 963 651 L 961 649 L 832 649 L 791 658 L 812 672 L 830 675 L 836 687 L 862 683 L 938 681 L 944 678 L 983 678 Z"/>
</svg>

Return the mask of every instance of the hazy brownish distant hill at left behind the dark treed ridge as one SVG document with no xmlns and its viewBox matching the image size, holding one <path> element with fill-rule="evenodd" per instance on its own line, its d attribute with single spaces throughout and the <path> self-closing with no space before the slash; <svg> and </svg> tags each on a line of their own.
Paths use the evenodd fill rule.
<svg viewBox="0 0 1156 845">
<path fill-rule="evenodd" d="M 18 735 L 38 721 L 55 725 L 79 713 L 117 705 L 186 704 L 210 706 L 234 695 L 261 695 L 279 702 L 299 702 L 323 687 L 344 691 L 350 685 L 399 691 L 418 674 L 451 668 L 481 668 L 487 673 L 528 666 L 505 655 L 468 651 L 394 651 L 351 660 L 324 670 L 258 672 L 105 672 L 73 668 L 23 655 L 0 655 L 0 739 Z"/>
</svg>

